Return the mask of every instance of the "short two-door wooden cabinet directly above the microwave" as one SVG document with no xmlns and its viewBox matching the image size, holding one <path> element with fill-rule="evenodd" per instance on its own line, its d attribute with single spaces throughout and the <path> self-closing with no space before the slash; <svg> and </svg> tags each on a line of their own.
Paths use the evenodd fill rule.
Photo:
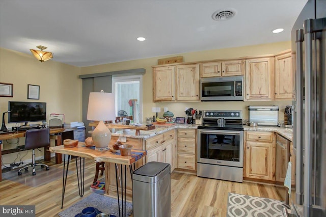
<svg viewBox="0 0 326 217">
<path fill-rule="evenodd" d="M 244 74 L 244 60 L 218 61 L 202 63 L 200 77 L 235 76 Z"/>
</svg>

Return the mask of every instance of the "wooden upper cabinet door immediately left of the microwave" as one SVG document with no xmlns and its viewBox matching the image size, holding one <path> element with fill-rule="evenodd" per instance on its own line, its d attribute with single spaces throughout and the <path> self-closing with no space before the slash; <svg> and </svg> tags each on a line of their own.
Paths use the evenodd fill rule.
<svg viewBox="0 0 326 217">
<path fill-rule="evenodd" d="M 199 100 L 199 65 L 176 66 L 176 99 Z"/>
</svg>

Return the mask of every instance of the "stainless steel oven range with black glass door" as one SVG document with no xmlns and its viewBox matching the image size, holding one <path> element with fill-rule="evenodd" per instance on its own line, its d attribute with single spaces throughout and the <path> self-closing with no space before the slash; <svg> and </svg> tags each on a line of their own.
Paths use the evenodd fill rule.
<svg viewBox="0 0 326 217">
<path fill-rule="evenodd" d="M 197 138 L 197 176 L 242 182 L 242 111 L 203 111 Z"/>
</svg>

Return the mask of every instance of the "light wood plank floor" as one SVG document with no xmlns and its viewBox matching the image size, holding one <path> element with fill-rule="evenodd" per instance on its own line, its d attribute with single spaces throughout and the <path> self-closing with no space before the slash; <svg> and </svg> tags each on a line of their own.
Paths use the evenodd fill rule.
<svg viewBox="0 0 326 217">
<path fill-rule="evenodd" d="M 53 159 L 47 165 L 60 169 L 63 167 L 62 164 L 55 165 Z M 83 199 L 78 195 L 74 166 L 75 164 L 69 166 L 74 173 L 67 179 L 64 209 Z M 85 159 L 84 197 L 92 193 L 89 186 L 94 179 L 94 174 L 95 163 Z M 221 181 L 173 172 L 171 174 L 171 215 L 173 217 L 225 217 L 229 192 L 281 200 L 277 189 L 271 185 Z M 58 216 L 58 213 L 63 210 L 60 208 L 61 195 L 62 177 L 39 187 L 30 187 L 6 179 L 0 182 L 1 205 L 36 205 L 36 216 Z"/>
</svg>

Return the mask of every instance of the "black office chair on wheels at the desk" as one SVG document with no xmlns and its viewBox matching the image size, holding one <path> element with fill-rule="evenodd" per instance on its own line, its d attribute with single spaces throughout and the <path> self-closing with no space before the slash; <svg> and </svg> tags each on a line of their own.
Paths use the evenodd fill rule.
<svg viewBox="0 0 326 217">
<path fill-rule="evenodd" d="M 50 146 L 50 129 L 49 128 L 44 128 L 44 129 L 30 129 L 26 130 L 26 135 L 25 135 L 25 145 L 23 146 L 17 146 L 16 148 L 25 151 L 25 150 L 33 150 L 33 155 L 32 155 L 32 162 L 31 164 L 26 165 L 25 167 L 21 168 L 18 170 L 18 175 L 21 175 L 21 170 L 25 169 L 26 171 L 29 169 L 29 167 L 33 167 L 33 176 L 36 175 L 35 172 L 35 166 L 41 166 L 46 167 L 46 170 L 49 170 L 50 168 L 45 165 L 45 164 L 37 164 L 35 162 L 35 149 L 37 148 L 43 148 Z M 39 150 L 41 151 L 41 150 Z"/>
</svg>

